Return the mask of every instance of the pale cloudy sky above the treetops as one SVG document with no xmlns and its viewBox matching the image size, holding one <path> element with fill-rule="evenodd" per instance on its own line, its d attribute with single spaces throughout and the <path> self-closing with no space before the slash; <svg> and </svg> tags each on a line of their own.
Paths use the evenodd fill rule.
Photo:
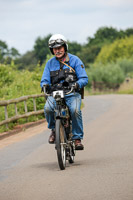
<svg viewBox="0 0 133 200">
<path fill-rule="evenodd" d="M 85 44 L 105 26 L 133 28 L 133 0 L 0 0 L 0 40 L 21 54 L 48 34 Z"/>
</svg>

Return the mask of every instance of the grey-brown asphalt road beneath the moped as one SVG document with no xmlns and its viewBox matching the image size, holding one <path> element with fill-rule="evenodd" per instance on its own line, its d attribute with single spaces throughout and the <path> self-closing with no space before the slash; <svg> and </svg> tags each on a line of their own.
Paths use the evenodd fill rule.
<svg viewBox="0 0 133 200">
<path fill-rule="evenodd" d="M 46 124 L 0 141 L 0 200 L 133 200 L 133 96 L 84 104 L 85 150 L 66 170 Z"/>
</svg>

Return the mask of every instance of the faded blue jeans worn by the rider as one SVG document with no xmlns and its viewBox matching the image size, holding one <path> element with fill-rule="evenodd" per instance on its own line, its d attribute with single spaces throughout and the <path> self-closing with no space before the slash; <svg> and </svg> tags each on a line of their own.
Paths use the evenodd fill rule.
<svg viewBox="0 0 133 200">
<path fill-rule="evenodd" d="M 81 106 L 81 95 L 79 93 L 71 93 L 65 96 L 66 104 L 70 110 L 72 118 L 72 134 L 73 140 L 83 139 L 83 122 L 82 113 L 80 110 Z M 55 128 L 54 108 L 56 106 L 55 99 L 52 96 L 47 98 L 44 106 L 44 113 L 48 122 L 48 128 Z"/>
</svg>

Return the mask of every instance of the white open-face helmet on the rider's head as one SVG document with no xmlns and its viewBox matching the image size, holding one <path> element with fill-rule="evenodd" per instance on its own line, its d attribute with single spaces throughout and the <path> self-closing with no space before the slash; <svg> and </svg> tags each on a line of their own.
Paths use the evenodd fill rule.
<svg viewBox="0 0 133 200">
<path fill-rule="evenodd" d="M 50 39 L 49 39 L 48 46 L 49 46 L 50 51 L 51 51 L 52 54 L 54 54 L 53 53 L 53 48 L 56 48 L 56 47 L 64 46 L 65 51 L 68 50 L 67 40 L 61 34 L 54 34 L 54 35 L 52 35 L 50 37 Z"/>
</svg>

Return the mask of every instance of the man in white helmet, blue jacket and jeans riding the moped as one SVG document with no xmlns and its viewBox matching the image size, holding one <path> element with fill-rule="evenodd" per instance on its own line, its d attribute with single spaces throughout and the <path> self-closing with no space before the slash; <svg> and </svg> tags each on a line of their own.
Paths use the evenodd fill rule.
<svg viewBox="0 0 133 200">
<path fill-rule="evenodd" d="M 61 89 L 64 82 L 74 85 L 75 92 L 65 96 L 65 102 L 70 110 L 72 119 L 72 139 L 75 141 L 75 149 L 83 150 L 81 143 L 83 139 L 83 121 L 81 112 L 81 91 L 88 83 L 88 76 L 83 62 L 75 55 L 68 53 L 68 44 L 66 38 L 61 34 L 54 34 L 48 42 L 50 51 L 53 55 L 45 66 L 41 87 L 47 85 L 48 89 Z M 49 143 L 55 142 L 55 117 L 54 117 L 55 99 L 48 96 L 44 106 L 44 113 L 48 122 L 48 128 L 51 129 Z"/>
</svg>

